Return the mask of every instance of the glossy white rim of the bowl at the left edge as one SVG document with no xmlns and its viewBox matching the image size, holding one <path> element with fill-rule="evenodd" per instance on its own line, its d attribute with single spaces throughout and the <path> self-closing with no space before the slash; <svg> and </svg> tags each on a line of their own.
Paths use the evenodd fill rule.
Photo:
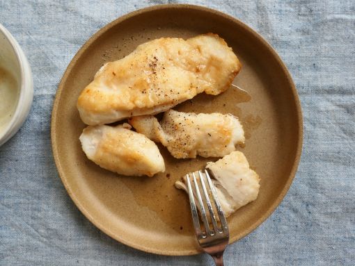
<svg viewBox="0 0 355 266">
<path fill-rule="evenodd" d="M 16 108 L 15 108 L 15 113 L 13 113 L 13 118 L 10 119 L 8 122 L 7 126 L 3 130 L 3 133 L 0 133 L 0 146 L 1 144 L 5 143 L 8 141 L 8 139 L 12 136 L 12 129 L 15 128 L 16 123 L 21 119 L 22 117 L 22 106 L 25 101 L 26 97 L 26 73 L 28 73 L 28 70 L 25 67 L 25 56 L 24 53 L 19 46 L 18 42 L 15 40 L 13 35 L 8 31 L 5 26 L 3 26 L 0 23 L 0 32 L 3 33 L 3 36 L 8 40 L 8 42 L 11 45 L 11 48 L 13 49 L 15 56 L 17 58 L 17 63 L 19 64 L 19 69 L 20 69 L 20 85 L 19 85 L 19 96 L 17 98 L 17 103 L 16 103 Z M 29 73 L 31 76 L 31 73 Z M 31 100 L 32 101 L 32 97 Z"/>
</svg>

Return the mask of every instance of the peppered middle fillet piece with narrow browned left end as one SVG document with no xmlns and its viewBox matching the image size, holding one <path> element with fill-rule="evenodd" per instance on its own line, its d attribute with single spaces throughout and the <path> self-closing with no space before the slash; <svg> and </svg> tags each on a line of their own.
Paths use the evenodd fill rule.
<svg viewBox="0 0 355 266">
<path fill-rule="evenodd" d="M 132 117 L 129 124 L 150 140 L 161 142 L 175 158 L 222 157 L 245 140 L 239 119 L 220 113 L 168 110 L 160 124 L 152 115 Z"/>
</svg>

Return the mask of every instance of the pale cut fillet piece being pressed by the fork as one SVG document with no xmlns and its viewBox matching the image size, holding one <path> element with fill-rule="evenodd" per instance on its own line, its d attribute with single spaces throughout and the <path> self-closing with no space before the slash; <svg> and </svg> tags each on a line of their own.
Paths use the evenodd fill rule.
<svg viewBox="0 0 355 266">
<path fill-rule="evenodd" d="M 260 178 L 249 168 L 242 152 L 233 151 L 216 163 L 207 163 L 206 168 L 210 169 L 216 178 L 212 183 L 226 217 L 258 197 Z M 195 172 L 195 175 L 198 176 L 198 172 Z M 207 185 L 207 181 L 205 184 Z M 188 192 L 185 176 L 181 181 L 177 181 L 175 186 Z"/>
</svg>

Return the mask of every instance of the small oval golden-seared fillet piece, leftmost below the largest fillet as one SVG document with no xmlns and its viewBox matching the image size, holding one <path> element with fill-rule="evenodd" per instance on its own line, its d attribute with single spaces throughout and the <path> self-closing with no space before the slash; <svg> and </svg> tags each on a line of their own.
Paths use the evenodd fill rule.
<svg viewBox="0 0 355 266">
<path fill-rule="evenodd" d="M 97 165 L 125 176 L 153 176 L 165 171 L 157 145 L 129 124 L 88 126 L 80 135 L 86 156 Z"/>
</svg>

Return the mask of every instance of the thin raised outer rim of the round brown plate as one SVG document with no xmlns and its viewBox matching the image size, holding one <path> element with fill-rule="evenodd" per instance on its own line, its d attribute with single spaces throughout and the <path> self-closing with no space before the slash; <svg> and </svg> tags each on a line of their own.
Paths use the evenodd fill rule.
<svg viewBox="0 0 355 266">
<path fill-rule="evenodd" d="M 234 24 L 238 24 L 242 28 L 244 28 L 248 33 L 251 33 L 253 37 L 257 38 L 262 45 L 264 45 L 270 52 L 271 55 L 277 60 L 277 63 L 281 66 L 283 69 L 283 72 L 285 73 L 285 77 L 287 78 L 287 82 L 290 83 L 290 87 L 292 90 L 292 97 L 294 97 L 294 102 L 296 105 L 296 110 L 297 110 L 297 126 L 299 128 L 298 132 L 298 143 L 297 143 L 297 150 L 295 153 L 295 159 L 294 163 L 292 165 L 292 169 L 290 171 L 290 176 L 287 178 L 287 181 L 281 190 L 281 193 L 278 195 L 278 197 L 275 199 L 274 203 L 272 203 L 269 208 L 267 208 L 266 212 L 264 215 L 259 217 L 257 221 L 249 226 L 248 228 L 245 228 L 242 233 L 239 233 L 237 235 L 234 235 L 232 238 L 230 238 L 229 244 L 232 244 L 233 242 L 236 242 L 237 240 L 240 240 L 241 238 L 244 238 L 246 235 L 251 233 L 252 231 L 255 230 L 260 224 L 265 222 L 265 220 L 270 217 L 272 213 L 274 213 L 274 210 L 280 205 L 281 201 L 285 197 L 285 194 L 287 194 L 287 191 L 290 189 L 290 186 L 292 184 L 292 181 L 294 180 L 294 177 L 297 172 L 297 168 L 299 166 L 299 161 L 301 159 L 301 152 L 302 152 L 302 146 L 303 146 L 303 116 L 302 116 L 302 110 L 301 110 L 301 103 L 299 100 L 299 95 L 297 93 L 297 88 L 294 85 L 294 82 L 292 80 L 292 76 L 290 72 L 288 71 L 285 63 L 283 63 L 283 60 L 281 60 L 281 57 L 278 55 L 278 53 L 275 51 L 273 47 L 271 47 L 271 44 L 265 40 L 262 35 L 260 35 L 258 32 L 256 32 L 251 26 L 248 26 L 244 24 L 244 22 L 240 21 L 239 19 L 232 17 L 231 15 L 228 15 L 226 13 L 222 13 L 219 10 L 215 10 L 213 8 L 207 8 L 205 6 L 198 6 L 198 5 L 191 5 L 191 4 L 185 4 L 185 3 L 176 3 L 176 4 L 162 4 L 162 5 L 155 5 L 155 6 L 148 6 L 146 8 L 141 8 L 139 10 L 135 10 L 131 13 L 127 13 L 125 15 L 122 15 L 118 17 L 117 19 L 114 19 L 112 22 L 109 22 L 109 24 L 106 24 L 102 28 L 100 28 L 98 31 L 96 31 L 93 35 L 90 36 L 90 38 L 79 48 L 75 56 L 72 58 L 70 61 L 68 67 L 65 69 L 65 72 L 63 74 L 63 77 L 61 78 L 60 83 L 58 84 L 58 89 L 56 90 L 56 96 L 54 98 L 54 103 L 53 103 L 53 108 L 52 108 L 52 117 L 51 117 L 51 142 L 52 142 L 52 153 L 54 156 L 54 162 L 56 164 L 56 169 L 58 171 L 58 174 L 61 178 L 61 181 L 65 187 L 65 190 L 67 190 L 70 198 L 74 202 L 75 206 L 79 208 L 81 213 L 84 214 L 84 216 L 92 223 L 94 224 L 97 228 L 100 229 L 100 231 L 104 232 L 105 234 L 109 235 L 109 237 L 113 238 L 114 240 L 117 240 L 118 242 L 121 242 L 129 247 L 132 247 L 134 249 L 139 249 L 141 251 L 145 251 L 148 253 L 155 253 L 159 255 L 168 255 L 168 256 L 188 256 L 188 255 L 195 255 L 198 253 L 202 253 L 203 251 L 200 249 L 189 249 L 185 251 L 164 251 L 161 249 L 156 249 L 153 247 L 147 247 L 145 245 L 138 244 L 136 242 L 130 242 L 129 240 L 125 238 L 121 238 L 119 234 L 113 233 L 109 228 L 106 228 L 104 225 L 102 225 L 100 222 L 95 220 L 92 215 L 90 215 L 90 212 L 84 208 L 84 206 L 81 205 L 81 202 L 77 199 L 75 194 L 72 192 L 72 189 L 70 188 L 70 185 L 68 185 L 68 182 L 66 181 L 65 174 L 63 171 L 63 168 L 60 163 L 59 155 L 58 155 L 58 149 L 57 149 L 57 143 L 56 143 L 56 115 L 57 115 L 57 110 L 58 110 L 58 103 L 59 99 L 61 98 L 61 93 L 63 92 L 64 85 L 68 79 L 68 76 L 71 72 L 72 67 L 74 66 L 75 63 L 77 63 L 77 60 L 81 58 L 81 55 L 86 51 L 86 49 L 97 40 L 97 38 L 100 38 L 100 35 L 102 33 L 106 32 L 109 30 L 109 28 L 112 28 L 113 26 L 116 26 L 117 24 L 120 24 L 121 22 L 124 22 L 125 20 L 135 17 L 136 15 L 141 15 L 143 13 L 150 13 L 155 10 L 161 10 L 161 9 L 193 9 L 196 11 L 203 11 L 207 13 L 214 13 L 214 15 L 218 15 L 221 17 L 224 17 Z"/>
</svg>

